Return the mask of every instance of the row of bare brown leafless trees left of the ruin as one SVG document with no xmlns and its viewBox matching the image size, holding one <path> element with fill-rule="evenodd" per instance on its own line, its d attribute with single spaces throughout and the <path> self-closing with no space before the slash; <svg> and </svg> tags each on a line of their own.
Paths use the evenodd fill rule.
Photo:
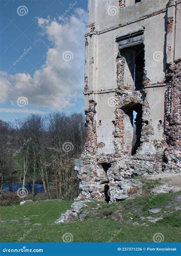
<svg viewBox="0 0 181 256">
<path fill-rule="evenodd" d="M 82 114 L 32 114 L 15 122 L 0 120 L 0 189 L 42 183 L 49 199 L 78 195 L 74 159 L 82 153 L 86 128 Z M 73 189 L 71 189 L 73 188 Z"/>
</svg>

